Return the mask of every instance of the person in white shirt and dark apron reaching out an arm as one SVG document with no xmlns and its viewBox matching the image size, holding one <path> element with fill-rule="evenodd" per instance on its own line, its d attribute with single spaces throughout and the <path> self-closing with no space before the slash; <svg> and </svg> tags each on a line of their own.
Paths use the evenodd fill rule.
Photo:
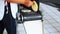
<svg viewBox="0 0 60 34">
<path fill-rule="evenodd" d="M 10 3 L 11 10 L 9 11 L 7 10 L 6 2 Z M 31 7 L 33 2 L 30 0 L 0 0 L 0 34 L 3 34 L 4 28 L 6 28 L 8 34 L 16 34 L 17 4 Z"/>
</svg>

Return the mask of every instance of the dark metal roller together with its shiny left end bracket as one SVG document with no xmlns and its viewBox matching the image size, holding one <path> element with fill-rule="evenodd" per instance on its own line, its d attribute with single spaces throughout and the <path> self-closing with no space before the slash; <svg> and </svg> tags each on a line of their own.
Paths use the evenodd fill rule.
<svg viewBox="0 0 60 34">
<path fill-rule="evenodd" d="M 41 20 L 41 19 L 42 19 L 42 16 L 39 13 L 34 13 L 34 12 L 29 12 L 29 13 L 26 12 L 26 13 L 21 13 L 17 15 L 18 23 L 24 22 L 24 21 Z"/>
</svg>

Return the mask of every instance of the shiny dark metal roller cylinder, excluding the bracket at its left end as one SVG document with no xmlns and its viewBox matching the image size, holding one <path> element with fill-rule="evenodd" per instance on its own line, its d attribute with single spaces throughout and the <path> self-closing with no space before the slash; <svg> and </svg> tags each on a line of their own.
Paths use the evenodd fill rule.
<svg viewBox="0 0 60 34">
<path fill-rule="evenodd" d="M 23 13 L 24 21 L 30 21 L 30 20 L 41 20 L 41 15 L 38 13 Z"/>
</svg>

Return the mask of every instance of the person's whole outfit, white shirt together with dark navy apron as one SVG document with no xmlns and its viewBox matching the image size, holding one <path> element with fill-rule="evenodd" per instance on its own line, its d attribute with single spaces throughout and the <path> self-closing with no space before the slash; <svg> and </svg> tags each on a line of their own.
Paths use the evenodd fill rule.
<svg viewBox="0 0 60 34">
<path fill-rule="evenodd" d="M 17 4 L 10 3 L 11 11 L 5 8 L 4 0 L 0 0 L 0 34 L 3 34 L 4 28 L 6 28 L 8 34 L 16 34 L 16 13 L 17 13 Z"/>
</svg>

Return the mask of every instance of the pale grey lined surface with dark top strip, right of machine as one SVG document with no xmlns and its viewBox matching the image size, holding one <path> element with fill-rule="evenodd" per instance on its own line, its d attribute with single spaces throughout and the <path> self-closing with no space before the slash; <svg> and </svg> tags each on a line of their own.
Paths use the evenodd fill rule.
<svg viewBox="0 0 60 34">
<path fill-rule="evenodd" d="M 42 0 L 44 34 L 60 34 L 60 0 Z"/>
</svg>

